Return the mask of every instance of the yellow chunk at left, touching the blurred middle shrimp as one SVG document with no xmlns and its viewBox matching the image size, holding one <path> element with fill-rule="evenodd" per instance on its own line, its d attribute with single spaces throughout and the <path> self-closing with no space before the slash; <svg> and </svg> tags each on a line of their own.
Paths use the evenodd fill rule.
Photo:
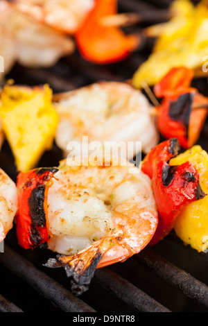
<svg viewBox="0 0 208 326">
<path fill-rule="evenodd" d="M 0 117 L 17 171 L 33 169 L 44 151 L 51 148 L 58 125 L 49 85 L 5 85 Z"/>
</svg>

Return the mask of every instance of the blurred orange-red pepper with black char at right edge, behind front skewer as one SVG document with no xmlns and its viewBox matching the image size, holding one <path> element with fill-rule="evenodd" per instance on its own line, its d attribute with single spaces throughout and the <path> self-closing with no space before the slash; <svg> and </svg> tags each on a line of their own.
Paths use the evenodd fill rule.
<svg viewBox="0 0 208 326">
<path fill-rule="evenodd" d="M 208 98 L 191 88 L 193 71 L 174 68 L 154 87 L 157 97 L 163 97 L 157 107 L 157 127 L 166 139 L 177 137 L 183 148 L 196 143 L 207 117 L 207 108 L 194 105 L 208 103 Z"/>
</svg>

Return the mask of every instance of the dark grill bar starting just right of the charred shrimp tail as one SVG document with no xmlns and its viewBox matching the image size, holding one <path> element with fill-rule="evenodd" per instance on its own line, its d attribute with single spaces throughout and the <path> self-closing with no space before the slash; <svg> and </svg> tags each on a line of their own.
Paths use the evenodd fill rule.
<svg viewBox="0 0 208 326">
<path fill-rule="evenodd" d="M 123 277 L 109 268 L 98 269 L 94 275 L 96 282 L 117 298 L 130 305 L 130 307 L 143 312 L 171 312 L 137 286 L 128 282 Z"/>
</svg>

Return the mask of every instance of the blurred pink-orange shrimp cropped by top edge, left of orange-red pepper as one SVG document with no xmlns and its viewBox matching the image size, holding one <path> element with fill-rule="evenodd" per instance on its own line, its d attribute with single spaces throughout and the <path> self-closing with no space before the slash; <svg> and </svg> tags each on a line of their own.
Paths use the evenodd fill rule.
<svg viewBox="0 0 208 326">
<path fill-rule="evenodd" d="M 94 0 L 15 0 L 21 12 L 65 33 L 76 33 Z"/>
</svg>

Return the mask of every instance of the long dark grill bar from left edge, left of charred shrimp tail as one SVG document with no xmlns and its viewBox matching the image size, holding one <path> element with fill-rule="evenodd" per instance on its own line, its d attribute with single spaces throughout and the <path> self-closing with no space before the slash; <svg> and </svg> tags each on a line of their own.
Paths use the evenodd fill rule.
<svg viewBox="0 0 208 326">
<path fill-rule="evenodd" d="M 44 298 L 65 312 L 96 312 L 88 304 L 77 298 L 51 277 L 39 271 L 30 261 L 21 257 L 9 246 L 4 246 L 4 252 L 0 254 L 0 261 L 4 267 L 15 273 L 27 282 Z"/>
</svg>

